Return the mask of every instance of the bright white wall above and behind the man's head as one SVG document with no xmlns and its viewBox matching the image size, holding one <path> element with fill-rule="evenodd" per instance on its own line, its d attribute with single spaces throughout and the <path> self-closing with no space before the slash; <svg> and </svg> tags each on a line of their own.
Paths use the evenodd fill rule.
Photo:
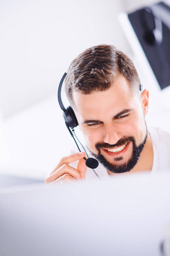
<svg viewBox="0 0 170 256">
<path fill-rule="evenodd" d="M 118 0 L 0 2 L 0 105 L 4 118 L 57 92 L 83 50 L 113 44 L 129 51 Z"/>
</svg>

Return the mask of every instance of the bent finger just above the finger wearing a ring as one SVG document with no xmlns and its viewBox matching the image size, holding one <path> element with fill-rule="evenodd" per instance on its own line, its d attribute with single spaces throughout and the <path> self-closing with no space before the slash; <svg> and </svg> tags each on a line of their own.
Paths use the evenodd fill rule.
<svg viewBox="0 0 170 256">
<path fill-rule="evenodd" d="M 59 167 L 59 169 L 57 169 L 53 174 L 47 177 L 45 180 L 45 183 L 51 183 L 54 180 L 57 180 L 59 176 L 62 176 L 64 174 L 70 174 L 72 177 L 74 177 L 77 180 L 81 178 L 81 175 L 77 169 L 65 163 L 64 165 Z"/>
</svg>

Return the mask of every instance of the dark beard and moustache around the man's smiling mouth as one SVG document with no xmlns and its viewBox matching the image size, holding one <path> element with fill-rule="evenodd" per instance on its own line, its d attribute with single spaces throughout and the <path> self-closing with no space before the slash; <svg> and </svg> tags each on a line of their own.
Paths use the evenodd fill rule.
<svg viewBox="0 0 170 256">
<path fill-rule="evenodd" d="M 146 139 L 147 139 L 147 132 L 146 132 L 143 142 L 139 146 L 136 145 L 136 141 L 133 136 L 123 137 L 120 140 L 118 140 L 118 142 L 114 145 L 110 145 L 108 143 L 96 143 L 95 146 L 96 146 L 96 150 L 98 151 L 98 154 L 96 155 L 92 151 L 91 151 L 91 153 L 110 172 L 113 172 L 113 173 L 129 172 L 136 165 L 136 163 L 139 159 L 139 156 L 142 152 L 142 149 L 144 148 L 144 144 L 146 143 Z M 101 154 L 100 148 L 113 148 L 116 146 L 120 147 L 122 145 L 125 145 L 125 143 L 130 143 L 130 142 L 132 142 L 132 144 L 133 144 L 133 150 L 132 150 L 130 159 L 127 161 L 127 163 L 112 164 L 112 163 L 108 162 L 108 160 L 106 160 L 106 158 Z M 114 157 L 115 161 L 120 161 L 122 159 L 123 159 L 123 157 Z"/>
</svg>

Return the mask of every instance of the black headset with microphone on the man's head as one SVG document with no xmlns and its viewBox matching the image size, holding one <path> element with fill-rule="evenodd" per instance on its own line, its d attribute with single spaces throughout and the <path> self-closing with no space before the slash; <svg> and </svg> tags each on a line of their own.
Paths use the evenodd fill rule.
<svg viewBox="0 0 170 256">
<path fill-rule="evenodd" d="M 62 79 L 59 83 L 59 88 L 58 88 L 58 102 L 59 102 L 59 106 L 60 108 L 62 109 L 62 114 L 63 114 L 63 117 L 64 117 L 64 120 L 65 120 L 65 125 L 66 127 L 68 128 L 68 131 L 69 133 L 71 134 L 71 137 L 74 139 L 74 142 L 76 143 L 77 145 L 77 148 L 79 149 L 79 151 L 81 152 L 74 136 L 77 138 L 75 132 L 74 132 L 74 128 L 77 127 L 79 124 L 77 122 L 77 118 L 76 118 L 76 115 L 74 113 L 74 110 L 71 108 L 71 106 L 69 106 L 68 108 L 65 108 L 63 103 L 62 103 L 62 99 L 61 99 L 61 88 L 62 88 L 62 83 L 65 79 L 65 76 L 67 75 L 67 73 L 64 73 L 64 75 L 62 76 Z M 142 91 L 142 84 L 139 85 L 139 90 Z M 78 140 L 78 138 L 77 138 Z M 78 140 L 79 141 L 79 140 Z M 80 141 L 79 141 L 80 143 Z M 88 154 L 85 150 L 85 148 L 83 147 L 83 145 L 80 143 L 80 145 L 82 146 L 82 148 L 84 149 L 87 157 L 88 157 Z M 89 168 L 93 169 L 96 169 L 98 166 L 99 166 L 99 162 L 95 159 L 95 158 L 92 158 L 92 157 L 88 157 L 88 158 L 85 158 L 85 164 L 86 166 L 88 166 Z M 94 173 L 96 174 L 96 172 L 94 171 Z M 96 174 L 97 177 L 99 177 L 97 174 Z"/>
</svg>

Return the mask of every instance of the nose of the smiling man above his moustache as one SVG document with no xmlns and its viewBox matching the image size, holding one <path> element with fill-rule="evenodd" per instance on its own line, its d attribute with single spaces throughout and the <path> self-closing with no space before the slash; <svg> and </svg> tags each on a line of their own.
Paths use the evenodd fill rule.
<svg viewBox="0 0 170 256">
<path fill-rule="evenodd" d="M 121 139 L 121 133 L 119 129 L 113 127 L 113 125 L 105 125 L 105 135 L 103 137 L 103 142 L 110 145 L 114 145 Z"/>
</svg>

